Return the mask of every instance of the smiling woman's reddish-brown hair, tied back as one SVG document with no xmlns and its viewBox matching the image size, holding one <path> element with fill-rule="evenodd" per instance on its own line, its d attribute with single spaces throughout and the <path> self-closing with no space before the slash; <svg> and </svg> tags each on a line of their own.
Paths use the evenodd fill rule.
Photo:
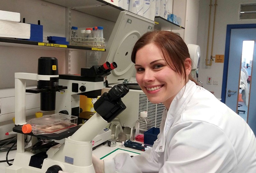
<svg viewBox="0 0 256 173">
<path fill-rule="evenodd" d="M 187 83 L 184 61 L 185 59 L 190 58 L 190 55 L 188 46 L 183 39 L 170 31 L 158 30 L 147 32 L 139 38 L 133 47 L 131 56 L 133 63 L 135 63 L 137 51 L 150 43 L 154 43 L 162 51 L 164 59 L 169 67 L 181 76 L 183 75 L 185 83 Z M 188 75 L 188 79 L 198 85 L 191 75 Z"/>
</svg>

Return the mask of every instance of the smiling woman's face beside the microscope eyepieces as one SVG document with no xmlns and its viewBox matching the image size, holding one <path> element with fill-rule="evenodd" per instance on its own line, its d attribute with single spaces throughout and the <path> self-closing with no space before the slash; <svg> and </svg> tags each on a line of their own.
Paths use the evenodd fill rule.
<svg viewBox="0 0 256 173">
<path fill-rule="evenodd" d="M 173 98 L 185 85 L 183 75 L 168 66 L 162 51 L 153 43 L 137 51 L 135 68 L 136 80 L 148 100 L 163 103 L 169 109 Z"/>
</svg>

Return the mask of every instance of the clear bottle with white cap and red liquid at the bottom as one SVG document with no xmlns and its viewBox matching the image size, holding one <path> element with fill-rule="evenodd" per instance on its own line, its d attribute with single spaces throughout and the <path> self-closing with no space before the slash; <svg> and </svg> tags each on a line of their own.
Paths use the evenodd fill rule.
<svg viewBox="0 0 256 173">
<path fill-rule="evenodd" d="M 140 112 L 140 119 L 136 121 L 135 140 L 144 142 L 144 132 L 151 128 L 151 120 L 148 119 L 148 112 Z"/>
</svg>

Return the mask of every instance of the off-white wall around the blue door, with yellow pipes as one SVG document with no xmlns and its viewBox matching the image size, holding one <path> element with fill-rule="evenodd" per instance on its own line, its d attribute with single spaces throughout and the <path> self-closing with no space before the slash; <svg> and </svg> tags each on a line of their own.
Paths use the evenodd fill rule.
<svg viewBox="0 0 256 173">
<path fill-rule="evenodd" d="M 238 10 L 240 3 L 256 3 L 256 0 L 218 0 L 215 19 L 215 32 L 212 56 L 225 54 L 225 42 L 226 42 L 226 29 L 228 24 L 248 24 L 256 23 L 256 20 L 238 20 Z M 214 0 L 212 0 L 214 4 Z M 199 3 L 199 20 L 198 20 L 198 34 L 197 44 L 201 49 L 201 61 L 199 69 L 199 80 L 204 83 L 204 88 L 210 91 L 214 91 L 214 95 L 217 98 L 221 98 L 222 76 L 224 63 L 212 62 L 212 66 L 205 65 L 206 49 L 207 49 L 207 34 L 208 34 L 208 19 L 210 11 L 210 0 L 203 0 Z M 212 19 L 211 26 L 213 26 L 213 14 L 214 5 L 212 7 Z M 208 59 L 211 56 L 212 46 L 212 29 L 210 30 Z M 224 57 L 225 58 L 225 57 Z M 215 59 L 215 58 L 214 58 Z M 208 62 L 209 63 L 209 62 Z M 211 76 L 212 80 L 218 81 L 218 85 L 207 85 L 207 76 Z"/>
</svg>

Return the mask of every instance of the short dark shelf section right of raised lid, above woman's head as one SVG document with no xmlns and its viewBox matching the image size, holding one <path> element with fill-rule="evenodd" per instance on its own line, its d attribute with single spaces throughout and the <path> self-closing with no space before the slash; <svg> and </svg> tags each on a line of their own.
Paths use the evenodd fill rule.
<svg viewBox="0 0 256 173">
<path fill-rule="evenodd" d="M 155 29 L 158 30 L 169 30 L 169 29 L 185 29 L 184 27 L 181 27 L 180 25 L 177 25 L 167 19 L 164 19 L 160 16 L 155 17 Z"/>
</svg>

